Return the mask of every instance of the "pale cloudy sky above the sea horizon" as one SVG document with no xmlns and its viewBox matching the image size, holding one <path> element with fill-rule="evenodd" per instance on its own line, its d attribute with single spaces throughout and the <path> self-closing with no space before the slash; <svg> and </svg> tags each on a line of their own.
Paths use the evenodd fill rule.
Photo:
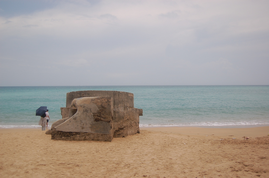
<svg viewBox="0 0 269 178">
<path fill-rule="evenodd" d="M 0 86 L 269 85 L 268 0 L 0 0 Z"/>
</svg>

